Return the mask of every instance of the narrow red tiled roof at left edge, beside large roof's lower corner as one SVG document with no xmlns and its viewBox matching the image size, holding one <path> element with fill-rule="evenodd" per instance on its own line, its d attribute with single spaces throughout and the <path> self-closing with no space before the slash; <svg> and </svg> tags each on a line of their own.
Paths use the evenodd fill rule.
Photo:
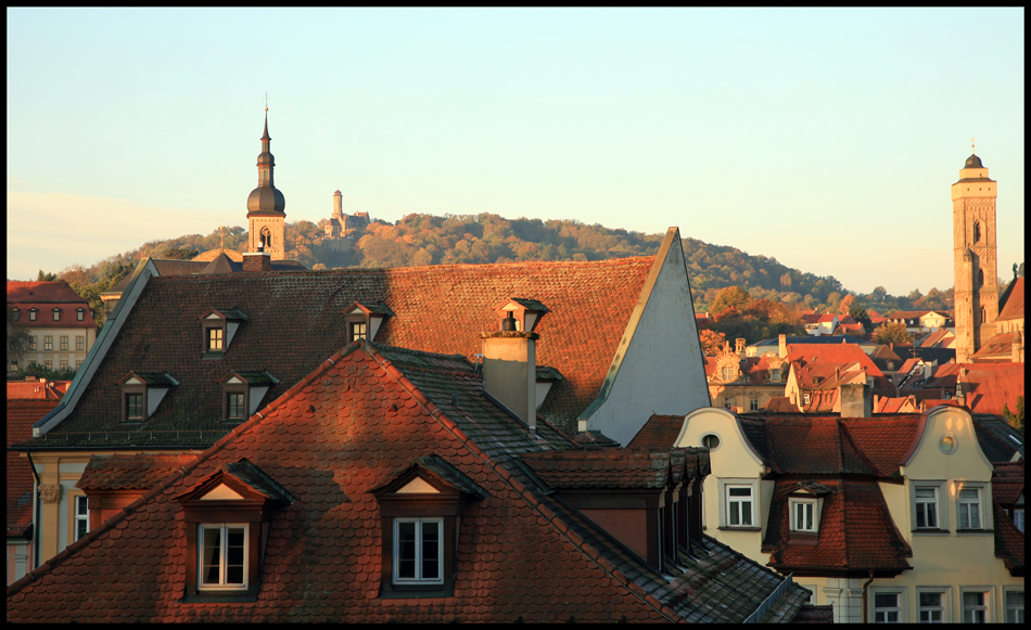
<svg viewBox="0 0 1031 630">
<path fill-rule="evenodd" d="M 28 439 L 33 425 L 58 406 L 56 399 L 8 399 L 8 446 Z M 8 536 L 24 536 L 33 524 L 33 467 L 8 451 Z"/>
</svg>

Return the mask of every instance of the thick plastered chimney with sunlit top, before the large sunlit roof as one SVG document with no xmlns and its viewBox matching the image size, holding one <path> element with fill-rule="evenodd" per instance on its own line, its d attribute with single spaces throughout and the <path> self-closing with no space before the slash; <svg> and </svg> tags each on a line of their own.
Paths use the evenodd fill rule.
<svg viewBox="0 0 1031 630">
<path fill-rule="evenodd" d="M 536 300 L 511 298 L 495 309 L 498 331 L 483 339 L 483 390 L 537 430 L 537 349 L 533 332 L 547 307 Z"/>
</svg>

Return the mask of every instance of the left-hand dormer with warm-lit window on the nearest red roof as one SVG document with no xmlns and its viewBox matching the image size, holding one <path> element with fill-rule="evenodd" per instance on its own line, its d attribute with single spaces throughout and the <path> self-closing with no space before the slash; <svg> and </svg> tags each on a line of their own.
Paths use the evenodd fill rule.
<svg viewBox="0 0 1031 630">
<path fill-rule="evenodd" d="M 186 522 L 183 602 L 253 602 L 267 529 L 296 499 L 246 459 L 226 464 L 176 500 Z"/>
</svg>

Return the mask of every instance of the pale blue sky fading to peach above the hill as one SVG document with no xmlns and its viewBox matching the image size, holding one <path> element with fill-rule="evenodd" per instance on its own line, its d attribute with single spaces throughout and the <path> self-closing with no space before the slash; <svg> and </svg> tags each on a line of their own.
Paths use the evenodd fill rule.
<svg viewBox="0 0 1031 630">
<path fill-rule="evenodd" d="M 856 293 L 953 285 L 950 185 L 1023 261 L 1022 9 L 8 9 L 8 279 L 288 222 L 575 219 Z"/>
</svg>

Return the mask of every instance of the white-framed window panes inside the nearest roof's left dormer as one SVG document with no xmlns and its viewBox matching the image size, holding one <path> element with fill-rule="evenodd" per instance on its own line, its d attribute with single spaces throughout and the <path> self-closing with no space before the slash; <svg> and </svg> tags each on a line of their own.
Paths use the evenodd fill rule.
<svg viewBox="0 0 1031 630">
<path fill-rule="evenodd" d="M 247 588 L 247 530 L 243 523 L 198 526 L 200 590 Z"/>
</svg>

